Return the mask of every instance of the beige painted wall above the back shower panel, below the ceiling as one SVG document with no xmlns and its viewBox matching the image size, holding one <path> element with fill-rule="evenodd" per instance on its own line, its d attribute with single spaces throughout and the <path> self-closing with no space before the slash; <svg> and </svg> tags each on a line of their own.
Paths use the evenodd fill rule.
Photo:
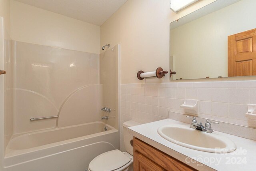
<svg viewBox="0 0 256 171">
<path fill-rule="evenodd" d="M 100 26 L 11 0 L 11 38 L 19 42 L 100 53 Z"/>
</svg>

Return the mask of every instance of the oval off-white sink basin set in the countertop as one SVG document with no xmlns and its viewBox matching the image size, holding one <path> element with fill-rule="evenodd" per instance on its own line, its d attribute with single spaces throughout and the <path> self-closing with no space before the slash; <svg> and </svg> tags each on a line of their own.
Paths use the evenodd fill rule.
<svg viewBox="0 0 256 171">
<path fill-rule="evenodd" d="M 164 139 L 199 151 L 210 153 L 230 153 L 236 150 L 236 144 L 217 133 L 206 133 L 184 125 L 165 125 L 159 127 L 158 134 Z"/>
</svg>

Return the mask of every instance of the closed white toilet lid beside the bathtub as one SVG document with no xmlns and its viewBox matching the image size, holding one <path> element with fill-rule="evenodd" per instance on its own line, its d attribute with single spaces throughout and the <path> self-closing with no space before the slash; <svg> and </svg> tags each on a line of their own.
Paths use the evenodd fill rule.
<svg viewBox="0 0 256 171">
<path fill-rule="evenodd" d="M 120 150 L 112 150 L 95 157 L 89 164 L 91 171 L 113 171 L 129 163 L 131 159 Z"/>
</svg>

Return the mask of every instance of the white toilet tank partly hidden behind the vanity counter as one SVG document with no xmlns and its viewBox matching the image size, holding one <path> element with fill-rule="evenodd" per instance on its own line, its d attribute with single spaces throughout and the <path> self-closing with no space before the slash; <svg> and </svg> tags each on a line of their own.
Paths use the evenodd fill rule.
<svg viewBox="0 0 256 171">
<path fill-rule="evenodd" d="M 140 125 L 141 123 L 135 121 L 126 121 L 123 123 L 123 133 L 124 133 L 124 147 L 125 150 L 133 155 L 133 147 L 131 145 L 131 140 L 133 140 L 133 136 L 128 133 L 128 127 Z"/>
</svg>

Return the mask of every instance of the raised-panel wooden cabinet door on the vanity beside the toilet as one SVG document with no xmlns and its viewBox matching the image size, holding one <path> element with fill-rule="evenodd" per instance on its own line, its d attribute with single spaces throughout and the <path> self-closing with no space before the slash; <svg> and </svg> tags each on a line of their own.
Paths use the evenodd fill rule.
<svg viewBox="0 0 256 171">
<path fill-rule="evenodd" d="M 134 162 L 136 171 L 164 171 L 162 167 L 145 157 L 144 155 L 136 152 L 137 162 Z"/>
</svg>

